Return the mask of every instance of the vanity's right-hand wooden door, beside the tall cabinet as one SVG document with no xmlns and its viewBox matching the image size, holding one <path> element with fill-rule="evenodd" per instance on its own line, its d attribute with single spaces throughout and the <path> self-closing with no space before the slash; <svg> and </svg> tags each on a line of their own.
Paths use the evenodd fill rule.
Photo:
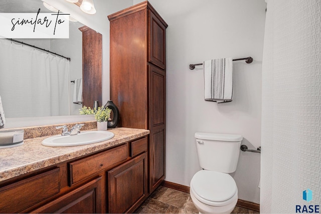
<svg viewBox="0 0 321 214">
<path fill-rule="evenodd" d="M 110 213 L 133 212 L 146 199 L 146 196 L 146 153 L 108 171 Z"/>
</svg>

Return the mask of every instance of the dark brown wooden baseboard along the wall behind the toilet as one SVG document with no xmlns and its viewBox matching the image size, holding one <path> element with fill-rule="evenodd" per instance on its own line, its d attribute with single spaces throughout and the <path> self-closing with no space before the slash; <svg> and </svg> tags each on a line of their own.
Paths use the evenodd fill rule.
<svg viewBox="0 0 321 214">
<path fill-rule="evenodd" d="M 178 184 L 178 183 L 173 183 L 173 182 L 166 181 L 166 180 L 164 180 L 162 182 L 162 185 L 165 186 L 165 187 L 169 187 L 169 188 L 172 188 L 172 189 L 176 189 L 176 190 L 182 191 L 182 192 L 190 193 L 190 187 L 189 186 L 185 186 L 185 185 Z M 260 212 L 260 204 L 258 204 L 258 203 L 253 203 L 251 201 L 238 199 L 236 205 L 239 206 L 239 207 L 243 207 L 243 208 L 246 208 L 246 209 L 251 209 L 251 210 Z"/>
</svg>

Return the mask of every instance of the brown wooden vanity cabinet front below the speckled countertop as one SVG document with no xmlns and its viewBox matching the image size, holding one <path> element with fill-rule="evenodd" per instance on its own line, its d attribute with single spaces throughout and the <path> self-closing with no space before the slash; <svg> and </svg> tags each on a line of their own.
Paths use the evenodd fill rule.
<svg viewBox="0 0 321 214">
<path fill-rule="evenodd" d="M 147 197 L 141 137 L 0 183 L 0 212 L 133 212 Z"/>
</svg>

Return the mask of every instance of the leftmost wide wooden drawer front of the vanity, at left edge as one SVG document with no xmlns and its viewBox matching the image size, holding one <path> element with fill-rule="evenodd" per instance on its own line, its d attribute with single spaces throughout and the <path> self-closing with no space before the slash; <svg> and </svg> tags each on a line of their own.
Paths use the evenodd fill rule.
<svg viewBox="0 0 321 214">
<path fill-rule="evenodd" d="M 60 168 L 56 168 L 0 188 L 0 210 L 21 212 L 59 192 Z"/>
</svg>

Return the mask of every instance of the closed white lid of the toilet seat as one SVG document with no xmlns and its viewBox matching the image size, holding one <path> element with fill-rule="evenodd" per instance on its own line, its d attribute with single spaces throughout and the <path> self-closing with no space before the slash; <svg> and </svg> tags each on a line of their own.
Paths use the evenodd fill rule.
<svg viewBox="0 0 321 214">
<path fill-rule="evenodd" d="M 231 175 L 209 170 L 198 171 L 191 180 L 191 186 L 198 196 L 213 202 L 226 201 L 237 192 Z"/>
</svg>

